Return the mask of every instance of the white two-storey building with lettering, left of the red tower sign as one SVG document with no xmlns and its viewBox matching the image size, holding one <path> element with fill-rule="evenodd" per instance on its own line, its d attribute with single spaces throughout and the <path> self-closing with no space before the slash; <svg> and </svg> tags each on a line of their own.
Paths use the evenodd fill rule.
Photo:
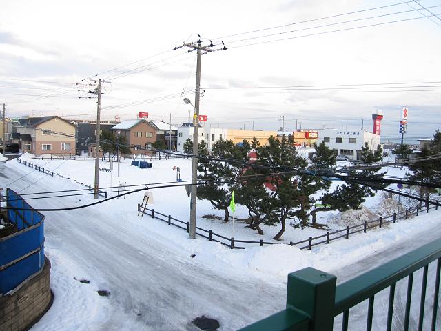
<svg viewBox="0 0 441 331">
<path fill-rule="evenodd" d="M 336 154 L 347 155 L 351 159 L 360 159 L 362 146 L 375 150 L 380 144 L 380 135 L 366 130 L 338 130 L 319 129 L 318 143 L 325 142 L 326 146 L 334 150 Z"/>
</svg>

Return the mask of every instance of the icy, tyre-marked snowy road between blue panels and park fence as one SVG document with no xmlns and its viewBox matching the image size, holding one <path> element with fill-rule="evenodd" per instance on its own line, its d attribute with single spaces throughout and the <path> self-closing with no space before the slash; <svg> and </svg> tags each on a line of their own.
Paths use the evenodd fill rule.
<svg viewBox="0 0 441 331">
<path fill-rule="evenodd" d="M 0 185 L 23 176 L 23 171 L 8 168 L 3 174 Z M 25 188 L 36 180 L 34 176 L 38 179 L 42 174 L 32 174 L 11 187 Z M 27 192 L 54 190 L 52 181 L 52 177 L 45 177 Z M 57 190 L 70 186 L 78 188 L 66 182 Z M 63 203 L 78 204 L 75 198 L 65 198 Z M 58 208 L 60 202 L 45 199 L 31 204 L 35 208 Z M 203 314 L 218 319 L 220 330 L 236 330 L 284 308 L 284 285 L 229 278 L 201 268 L 197 257 L 176 256 L 160 239 L 116 228 L 106 220 L 112 215 L 106 212 L 105 204 L 43 214 L 46 252 L 53 260 L 52 278 L 57 277 L 54 283 L 62 286 L 54 288 L 53 307 L 32 330 L 68 330 L 65 325 L 69 330 L 198 330 L 190 322 Z M 57 270 L 61 264 L 70 268 Z M 69 277 L 62 279 L 65 272 Z M 73 277 L 91 283 L 81 284 Z M 86 298 L 78 297 L 80 285 Z M 110 297 L 98 297 L 96 290 L 108 290 Z M 91 293 L 97 297 L 93 301 L 87 299 Z M 78 311 L 75 300 L 84 301 L 82 310 Z M 45 320 L 56 322 L 48 325 Z"/>
</svg>

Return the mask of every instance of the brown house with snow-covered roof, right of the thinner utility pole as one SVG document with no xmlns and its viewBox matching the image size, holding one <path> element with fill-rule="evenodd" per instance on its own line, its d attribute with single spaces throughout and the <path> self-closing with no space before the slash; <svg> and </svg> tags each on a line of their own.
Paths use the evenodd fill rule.
<svg viewBox="0 0 441 331">
<path fill-rule="evenodd" d="M 156 128 L 144 119 L 122 121 L 112 127 L 112 131 L 115 134 L 121 131 L 121 136 L 127 139 L 133 154 L 152 154 L 150 149 L 156 141 Z"/>
</svg>

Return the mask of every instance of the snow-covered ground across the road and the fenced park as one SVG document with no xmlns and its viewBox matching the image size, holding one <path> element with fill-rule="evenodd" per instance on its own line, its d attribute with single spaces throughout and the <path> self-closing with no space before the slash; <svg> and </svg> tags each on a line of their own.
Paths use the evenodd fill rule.
<svg viewBox="0 0 441 331">
<path fill-rule="evenodd" d="M 12 160 L 0 164 L 0 186 L 27 194 L 81 189 L 74 180 L 88 185 L 94 180 L 91 159 L 28 161 L 68 179 L 50 177 Z M 114 172 L 100 172 L 100 187 L 106 190 L 118 182 L 177 183 L 174 166 L 181 168 L 183 181 L 189 180 L 189 160 L 153 163 L 153 168 L 139 169 L 130 167 L 129 160 L 123 161 L 119 178 L 114 164 Z M 109 163 L 101 166 L 109 168 Z M 400 170 L 388 171 L 395 175 Z M 153 192 L 155 210 L 188 220 L 189 198 L 183 187 Z M 340 281 L 441 234 L 441 214 L 433 211 L 311 251 L 289 245 L 230 250 L 205 239 L 189 240 L 181 229 L 138 217 L 136 205 L 142 199 L 143 192 L 137 192 L 90 208 L 43 212 L 45 252 L 52 262 L 55 298 L 52 308 L 32 330 L 197 330 L 191 321 L 203 314 L 218 319 L 220 330 L 236 330 L 284 308 L 289 272 L 312 266 L 337 274 Z M 365 205 L 373 209 L 381 199 L 376 196 Z M 93 195 L 29 200 L 34 208 L 72 207 L 95 201 Z M 211 204 L 198 201 L 198 226 L 231 237 L 232 224 L 203 219 L 206 214 L 220 215 Z M 236 217 L 246 217 L 246 210 L 238 206 Z M 236 237 L 262 238 L 243 225 L 236 223 Z M 284 242 L 320 231 L 288 228 Z M 269 227 L 264 230 L 265 241 L 278 231 Z M 190 257 L 192 254 L 196 256 Z M 364 263 L 368 258 L 371 263 Z M 90 284 L 80 283 L 81 279 Z M 107 290 L 110 296 L 99 297 L 97 290 Z M 387 297 L 383 299 L 387 306 Z"/>
</svg>

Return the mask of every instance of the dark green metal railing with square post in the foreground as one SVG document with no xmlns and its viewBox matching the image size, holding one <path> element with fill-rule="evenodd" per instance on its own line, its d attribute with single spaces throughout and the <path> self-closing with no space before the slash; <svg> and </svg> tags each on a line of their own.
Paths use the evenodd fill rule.
<svg viewBox="0 0 441 331">
<path fill-rule="evenodd" d="M 429 263 L 437 260 L 433 307 L 430 326 L 424 324 L 424 305 L 427 292 Z M 314 268 L 305 268 L 288 275 L 287 308 L 240 331 L 328 331 L 334 328 L 334 317 L 342 314 L 342 330 L 348 330 L 349 310 L 368 301 L 366 329 L 372 330 L 375 295 L 389 288 L 389 305 L 384 330 L 391 330 L 396 283 L 407 277 L 407 294 L 402 330 L 409 329 L 413 275 L 422 269 L 421 294 L 417 326 L 411 330 L 437 330 L 438 298 L 440 290 L 441 239 L 404 254 L 365 274 L 336 286 L 337 277 Z M 413 304 L 415 304 L 415 299 Z"/>
</svg>

